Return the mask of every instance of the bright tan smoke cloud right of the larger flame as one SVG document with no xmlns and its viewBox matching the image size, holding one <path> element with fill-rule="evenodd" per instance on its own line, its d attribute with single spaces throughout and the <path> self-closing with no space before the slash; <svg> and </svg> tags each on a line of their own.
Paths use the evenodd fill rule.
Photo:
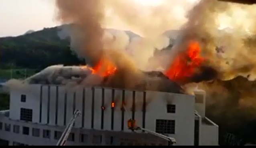
<svg viewBox="0 0 256 148">
<path fill-rule="evenodd" d="M 201 1 L 189 12 L 183 39 L 201 42 L 207 65 L 218 69 L 219 79 L 243 76 L 255 80 L 255 5 L 242 5 L 217 0 Z"/>
</svg>

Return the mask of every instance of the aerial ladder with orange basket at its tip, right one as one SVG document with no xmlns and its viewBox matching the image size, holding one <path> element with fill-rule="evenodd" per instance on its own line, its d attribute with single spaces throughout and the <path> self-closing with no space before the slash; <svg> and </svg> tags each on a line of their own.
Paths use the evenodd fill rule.
<svg viewBox="0 0 256 148">
<path fill-rule="evenodd" d="M 165 140 L 168 141 L 168 145 L 169 146 L 174 146 L 176 144 L 176 140 L 175 138 L 171 138 L 171 137 L 168 137 L 168 136 L 165 136 L 163 134 L 159 134 L 159 133 L 156 133 L 154 131 L 151 131 L 151 130 L 148 130 L 148 129 L 145 129 L 145 128 L 141 128 L 139 126 L 136 126 L 136 121 L 135 120 L 128 120 L 128 128 L 132 131 L 136 131 L 136 130 L 142 130 L 142 131 L 146 131 L 147 133 L 149 134 L 152 134 L 154 136 L 157 136 L 157 137 L 160 137 L 160 138 L 163 138 Z"/>
</svg>

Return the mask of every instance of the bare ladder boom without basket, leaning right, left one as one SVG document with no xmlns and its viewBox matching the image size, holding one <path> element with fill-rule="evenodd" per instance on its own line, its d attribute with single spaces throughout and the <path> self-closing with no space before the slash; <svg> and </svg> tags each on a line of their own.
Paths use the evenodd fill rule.
<svg viewBox="0 0 256 148">
<path fill-rule="evenodd" d="M 62 133 L 61 138 L 59 139 L 56 146 L 65 146 L 67 138 L 69 137 L 69 134 L 73 127 L 73 124 L 75 123 L 75 119 L 80 115 L 81 115 L 81 112 L 79 110 L 75 110 L 71 120 L 69 121 L 69 124 L 67 125 L 64 132 Z"/>
</svg>

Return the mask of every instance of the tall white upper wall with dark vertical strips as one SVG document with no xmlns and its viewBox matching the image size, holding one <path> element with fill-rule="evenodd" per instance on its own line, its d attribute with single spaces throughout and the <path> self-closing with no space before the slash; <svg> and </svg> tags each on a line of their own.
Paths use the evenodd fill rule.
<svg viewBox="0 0 256 148">
<path fill-rule="evenodd" d="M 157 119 L 175 120 L 175 134 L 170 136 L 176 138 L 177 145 L 194 143 L 195 99 L 193 96 L 101 87 L 79 88 L 75 91 L 66 91 L 63 86 L 30 85 L 28 87 L 11 89 L 10 118 L 12 120 L 20 119 L 21 107 L 33 109 L 33 123 L 49 126 L 65 126 L 72 117 L 74 109 L 79 109 L 82 116 L 75 121 L 75 128 L 83 129 L 131 132 L 127 129 L 127 120 L 134 118 L 138 126 L 144 125 L 145 128 L 155 131 Z M 26 95 L 25 103 L 20 102 L 22 94 Z M 112 108 L 112 102 L 114 102 L 114 108 Z M 144 104 L 145 111 L 143 111 Z M 167 104 L 176 105 L 175 114 L 167 113 Z M 105 107 L 104 110 L 102 106 Z M 124 112 L 122 112 L 122 106 L 124 106 Z"/>
</svg>

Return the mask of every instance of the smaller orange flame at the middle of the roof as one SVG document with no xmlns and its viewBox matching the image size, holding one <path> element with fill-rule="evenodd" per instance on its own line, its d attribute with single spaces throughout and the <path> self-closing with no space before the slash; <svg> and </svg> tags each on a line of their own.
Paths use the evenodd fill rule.
<svg viewBox="0 0 256 148">
<path fill-rule="evenodd" d="M 116 72 L 117 68 L 111 61 L 107 59 L 101 59 L 94 67 L 88 67 L 87 65 L 81 66 L 84 69 L 90 69 L 92 74 L 100 75 L 101 77 L 107 77 Z"/>
</svg>

